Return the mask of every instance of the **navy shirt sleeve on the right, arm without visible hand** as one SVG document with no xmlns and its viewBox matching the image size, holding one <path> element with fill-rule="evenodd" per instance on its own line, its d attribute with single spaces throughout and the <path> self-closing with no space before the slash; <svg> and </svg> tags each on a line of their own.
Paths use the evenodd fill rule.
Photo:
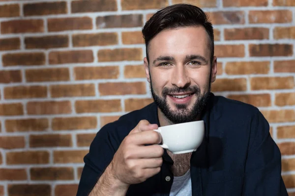
<svg viewBox="0 0 295 196">
<path fill-rule="evenodd" d="M 243 196 L 288 196 L 281 176 L 280 150 L 259 111 L 252 119 L 250 134 Z"/>
</svg>

